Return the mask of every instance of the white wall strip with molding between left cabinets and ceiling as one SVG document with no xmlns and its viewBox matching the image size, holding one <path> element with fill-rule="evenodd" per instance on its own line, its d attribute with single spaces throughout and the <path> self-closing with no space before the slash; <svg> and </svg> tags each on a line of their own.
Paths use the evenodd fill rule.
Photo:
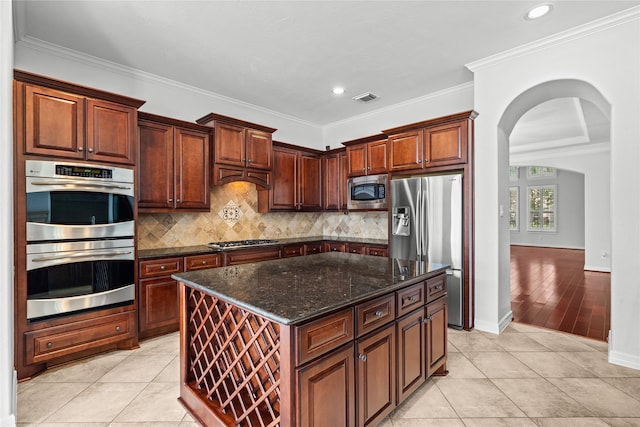
<svg viewBox="0 0 640 427">
<path fill-rule="evenodd" d="M 144 100 L 140 111 L 190 122 L 214 112 L 276 128 L 277 141 L 324 149 L 311 123 L 57 46 L 16 43 L 15 68 Z"/>
</svg>

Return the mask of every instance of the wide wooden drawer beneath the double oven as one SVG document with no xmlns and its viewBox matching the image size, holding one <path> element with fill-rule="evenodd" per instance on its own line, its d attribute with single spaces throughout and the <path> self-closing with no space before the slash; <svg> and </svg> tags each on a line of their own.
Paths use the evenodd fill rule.
<svg viewBox="0 0 640 427">
<path fill-rule="evenodd" d="M 27 364 L 134 338 L 135 311 L 25 333 Z"/>
</svg>

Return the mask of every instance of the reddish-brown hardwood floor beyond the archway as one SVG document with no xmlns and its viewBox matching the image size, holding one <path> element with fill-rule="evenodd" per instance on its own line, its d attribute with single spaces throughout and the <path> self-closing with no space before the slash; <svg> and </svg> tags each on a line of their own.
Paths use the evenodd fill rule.
<svg viewBox="0 0 640 427">
<path fill-rule="evenodd" d="M 610 273 L 583 268 L 582 250 L 511 246 L 513 320 L 606 341 Z"/>
</svg>

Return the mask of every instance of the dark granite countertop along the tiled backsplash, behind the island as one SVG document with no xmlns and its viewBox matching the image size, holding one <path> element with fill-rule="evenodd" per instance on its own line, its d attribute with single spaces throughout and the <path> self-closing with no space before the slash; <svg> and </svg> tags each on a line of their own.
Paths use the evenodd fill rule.
<svg viewBox="0 0 640 427">
<path fill-rule="evenodd" d="M 275 243 L 265 244 L 255 246 L 256 248 L 269 247 L 269 246 L 284 246 L 295 243 L 304 243 L 304 242 L 318 242 L 318 241 L 335 241 L 335 242 L 347 242 L 347 243 L 363 243 L 368 245 L 387 245 L 386 240 L 382 239 L 366 239 L 359 237 L 327 237 L 327 236 L 314 236 L 314 237 L 294 237 L 287 239 L 277 239 Z M 138 251 L 138 259 L 153 259 L 153 258 L 168 258 L 174 256 L 188 256 L 188 255 L 198 255 L 198 254 L 206 254 L 212 252 L 224 252 L 224 251 L 234 251 L 238 249 L 246 249 L 247 247 L 242 248 L 210 248 L 207 245 L 196 245 L 196 246 L 177 246 L 170 248 L 160 248 L 160 249 L 141 249 Z"/>
</svg>

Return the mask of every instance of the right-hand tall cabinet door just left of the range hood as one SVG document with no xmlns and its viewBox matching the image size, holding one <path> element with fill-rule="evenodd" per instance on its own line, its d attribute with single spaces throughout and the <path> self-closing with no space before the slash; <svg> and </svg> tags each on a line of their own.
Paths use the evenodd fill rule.
<svg viewBox="0 0 640 427">
<path fill-rule="evenodd" d="M 209 209 L 209 135 L 175 129 L 176 207 Z"/>
</svg>

